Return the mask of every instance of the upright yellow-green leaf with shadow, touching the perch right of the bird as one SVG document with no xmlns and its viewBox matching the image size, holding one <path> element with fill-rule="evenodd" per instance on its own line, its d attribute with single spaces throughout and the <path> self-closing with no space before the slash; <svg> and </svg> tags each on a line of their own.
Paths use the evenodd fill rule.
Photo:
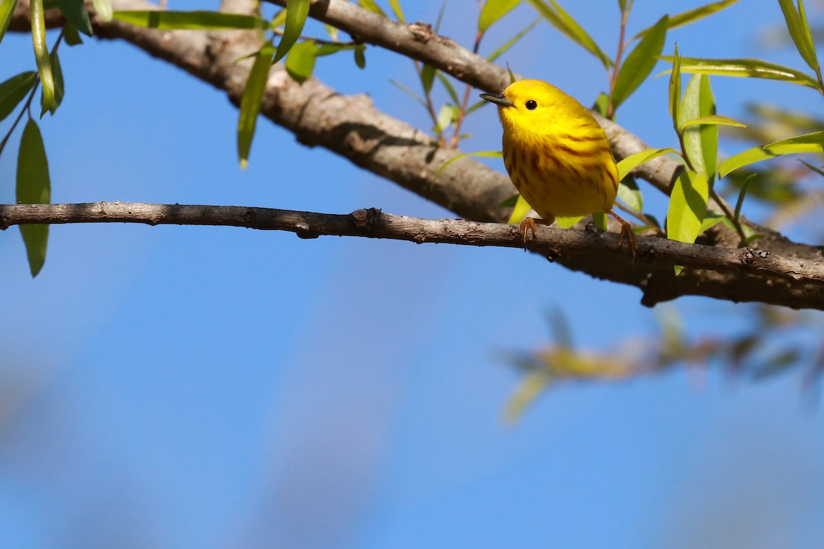
<svg viewBox="0 0 824 549">
<path fill-rule="evenodd" d="M 672 186 L 667 212 L 667 238 L 692 244 L 701 234 L 707 212 L 709 184 L 703 174 L 685 170 Z M 681 268 L 676 268 L 676 274 Z"/>
</svg>

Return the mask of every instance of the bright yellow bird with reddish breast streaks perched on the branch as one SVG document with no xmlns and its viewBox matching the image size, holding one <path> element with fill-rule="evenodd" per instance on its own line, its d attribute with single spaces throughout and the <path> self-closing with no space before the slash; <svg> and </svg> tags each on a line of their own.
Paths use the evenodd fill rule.
<svg viewBox="0 0 824 549">
<path fill-rule="evenodd" d="M 500 94 L 480 94 L 498 105 L 503 165 L 518 192 L 549 225 L 555 216 L 606 212 L 621 223 L 635 255 L 632 226 L 612 211 L 618 170 L 606 133 L 583 105 L 540 80 L 520 80 Z M 536 220 L 521 223 L 535 237 Z"/>
</svg>

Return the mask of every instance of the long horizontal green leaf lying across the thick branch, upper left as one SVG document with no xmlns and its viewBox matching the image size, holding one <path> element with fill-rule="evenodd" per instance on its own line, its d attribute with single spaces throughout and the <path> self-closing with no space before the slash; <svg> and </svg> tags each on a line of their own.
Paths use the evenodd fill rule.
<svg viewBox="0 0 824 549">
<path fill-rule="evenodd" d="M 257 16 L 222 12 L 115 12 L 114 18 L 133 26 L 162 30 L 268 30 L 269 22 Z"/>
</svg>

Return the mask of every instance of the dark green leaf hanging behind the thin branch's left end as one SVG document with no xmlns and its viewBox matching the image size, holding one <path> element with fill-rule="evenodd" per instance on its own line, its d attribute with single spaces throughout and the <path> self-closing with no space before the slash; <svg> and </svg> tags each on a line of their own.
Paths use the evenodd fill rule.
<svg viewBox="0 0 824 549">
<path fill-rule="evenodd" d="M 43 147 L 43 137 L 34 119 L 29 119 L 17 150 L 17 203 L 48 204 L 51 202 L 49 163 Z M 29 259 L 31 276 L 36 277 L 46 260 L 46 245 L 49 240 L 48 225 L 21 225 L 26 256 Z"/>
</svg>

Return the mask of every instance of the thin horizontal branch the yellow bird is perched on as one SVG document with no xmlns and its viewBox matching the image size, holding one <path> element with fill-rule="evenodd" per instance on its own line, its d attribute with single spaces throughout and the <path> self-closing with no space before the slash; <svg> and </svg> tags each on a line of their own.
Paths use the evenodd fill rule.
<svg viewBox="0 0 824 549">
<path fill-rule="evenodd" d="M 482 223 L 460 219 L 420 219 L 393 216 L 375 208 L 349 215 L 294 212 L 265 207 L 143 204 L 133 202 L 92 202 L 86 204 L 6 204 L 0 205 L 0 229 L 12 225 L 49 223 L 145 223 L 147 225 L 236 226 L 260 230 L 286 230 L 301 238 L 321 235 L 361 236 L 407 240 L 417 244 L 462 244 L 471 246 L 523 247 L 517 227 L 502 223 Z M 639 237 L 639 256 L 633 263 L 618 235 L 588 226 L 587 230 L 539 227 L 537 241 L 528 248 L 551 260 L 577 263 L 597 261 L 620 267 L 627 281 L 648 286 L 650 272 L 663 278 L 656 295 L 683 292 L 681 279 L 735 276 L 736 284 L 723 287 L 728 300 L 755 300 L 765 303 L 824 309 L 824 267 L 822 262 L 784 258 L 754 249 L 728 249 L 674 240 Z M 680 276 L 673 265 L 688 269 Z M 711 273 L 709 273 L 711 272 Z M 721 286 L 695 284 L 695 295 L 719 297 Z"/>
</svg>

